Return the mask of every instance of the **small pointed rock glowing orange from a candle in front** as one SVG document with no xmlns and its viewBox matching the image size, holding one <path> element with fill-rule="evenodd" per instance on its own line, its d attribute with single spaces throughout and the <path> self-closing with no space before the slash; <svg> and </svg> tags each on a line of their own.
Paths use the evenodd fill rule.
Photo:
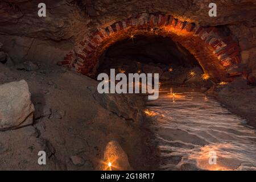
<svg viewBox="0 0 256 182">
<path fill-rule="evenodd" d="M 115 141 L 110 141 L 104 150 L 104 164 L 101 169 L 104 171 L 127 171 L 131 170 L 127 154 Z"/>
</svg>

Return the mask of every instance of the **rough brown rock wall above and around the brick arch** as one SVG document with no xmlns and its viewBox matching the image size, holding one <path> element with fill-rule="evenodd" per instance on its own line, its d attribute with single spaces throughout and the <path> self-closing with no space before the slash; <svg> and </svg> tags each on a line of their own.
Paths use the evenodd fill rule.
<svg viewBox="0 0 256 182">
<path fill-rule="evenodd" d="M 245 77 L 255 76 L 256 6 L 253 0 L 217 1 L 216 18 L 209 17 L 209 1 L 206 0 L 45 1 L 46 18 L 39 18 L 37 15 L 39 3 L 38 0 L 0 2 L 0 34 L 22 37 L 16 41 L 9 37 L 0 38 L 0 42 L 9 39 L 5 41 L 3 49 L 9 53 L 14 63 L 32 59 L 56 63 L 65 56 L 71 56 L 65 55 L 64 50 L 69 52 L 75 44 L 99 27 L 108 27 L 118 20 L 134 18 L 141 13 L 162 13 L 171 14 L 183 22 L 199 23 L 204 27 L 217 26 L 223 34 L 231 35 L 240 45 Z M 23 40 L 20 42 L 19 39 Z M 46 43 L 38 43 L 41 40 Z M 63 46 L 52 46 L 52 41 Z M 54 49 L 56 47 L 57 53 Z M 28 50 L 31 56 L 28 55 Z"/>
</svg>

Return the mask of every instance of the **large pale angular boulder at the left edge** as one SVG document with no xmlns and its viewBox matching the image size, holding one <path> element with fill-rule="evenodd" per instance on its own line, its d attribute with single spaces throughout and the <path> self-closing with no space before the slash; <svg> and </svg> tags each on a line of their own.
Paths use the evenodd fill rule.
<svg viewBox="0 0 256 182">
<path fill-rule="evenodd" d="M 0 130 L 32 124 L 34 110 L 26 81 L 0 85 Z"/>
</svg>

